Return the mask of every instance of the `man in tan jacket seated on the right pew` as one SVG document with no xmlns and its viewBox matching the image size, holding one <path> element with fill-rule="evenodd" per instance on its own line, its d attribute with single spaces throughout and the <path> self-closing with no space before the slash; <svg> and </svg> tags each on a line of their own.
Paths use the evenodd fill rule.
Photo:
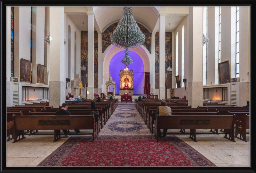
<svg viewBox="0 0 256 173">
<path fill-rule="evenodd" d="M 158 114 L 158 116 L 169 116 L 169 115 L 172 115 L 172 109 L 167 106 L 166 101 L 162 100 L 161 101 L 161 106 L 159 106 L 156 109 L 155 117 L 156 117 L 157 114 Z M 168 129 L 164 129 L 163 136 L 161 136 L 161 130 L 157 129 L 158 138 L 165 137 L 167 130 Z"/>
</svg>

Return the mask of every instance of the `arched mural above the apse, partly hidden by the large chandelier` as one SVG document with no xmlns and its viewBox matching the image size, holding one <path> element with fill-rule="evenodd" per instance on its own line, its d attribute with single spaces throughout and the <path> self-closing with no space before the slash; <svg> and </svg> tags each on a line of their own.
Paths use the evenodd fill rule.
<svg viewBox="0 0 256 173">
<path fill-rule="evenodd" d="M 107 29 L 104 32 L 102 32 L 102 53 L 104 53 L 104 51 L 108 48 L 108 46 L 111 45 L 110 35 L 115 31 L 118 23 L 119 22 L 109 25 Z M 149 53 L 151 54 L 151 35 L 152 34 L 148 31 L 148 29 L 145 26 L 139 23 L 137 24 L 140 28 L 140 31 L 142 31 L 145 34 L 144 46 L 148 49 Z"/>
</svg>

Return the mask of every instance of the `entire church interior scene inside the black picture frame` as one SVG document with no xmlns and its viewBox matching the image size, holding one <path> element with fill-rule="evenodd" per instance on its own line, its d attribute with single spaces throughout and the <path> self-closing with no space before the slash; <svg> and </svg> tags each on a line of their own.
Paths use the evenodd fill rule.
<svg viewBox="0 0 256 173">
<path fill-rule="evenodd" d="M 6 32 L 7 167 L 250 166 L 250 7 L 7 6 Z"/>
</svg>

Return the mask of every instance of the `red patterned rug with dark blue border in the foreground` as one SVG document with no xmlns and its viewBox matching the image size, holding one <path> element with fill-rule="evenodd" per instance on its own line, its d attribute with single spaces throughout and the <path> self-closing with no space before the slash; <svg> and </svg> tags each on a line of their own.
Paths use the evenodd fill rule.
<svg viewBox="0 0 256 173">
<path fill-rule="evenodd" d="M 176 136 L 69 137 L 37 166 L 216 166 Z"/>
</svg>

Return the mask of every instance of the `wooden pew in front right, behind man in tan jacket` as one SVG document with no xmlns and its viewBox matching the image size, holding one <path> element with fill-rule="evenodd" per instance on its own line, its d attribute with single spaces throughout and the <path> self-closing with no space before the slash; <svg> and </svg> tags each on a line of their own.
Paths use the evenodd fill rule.
<svg viewBox="0 0 256 173">
<path fill-rule="evenodd" d="M 224 138 L 235 142 L 234 120 L 235 115 L 171 115 L 156 116 L 154 138 L 158 142 L 157 129 L 190 129 L 190 133 L 166 133 L 189 134 L 189 138 L 196 142 L 196 129 L 224 129 Z M 227 137 L 228 135 L 228 137 Z"/>
</svg>

